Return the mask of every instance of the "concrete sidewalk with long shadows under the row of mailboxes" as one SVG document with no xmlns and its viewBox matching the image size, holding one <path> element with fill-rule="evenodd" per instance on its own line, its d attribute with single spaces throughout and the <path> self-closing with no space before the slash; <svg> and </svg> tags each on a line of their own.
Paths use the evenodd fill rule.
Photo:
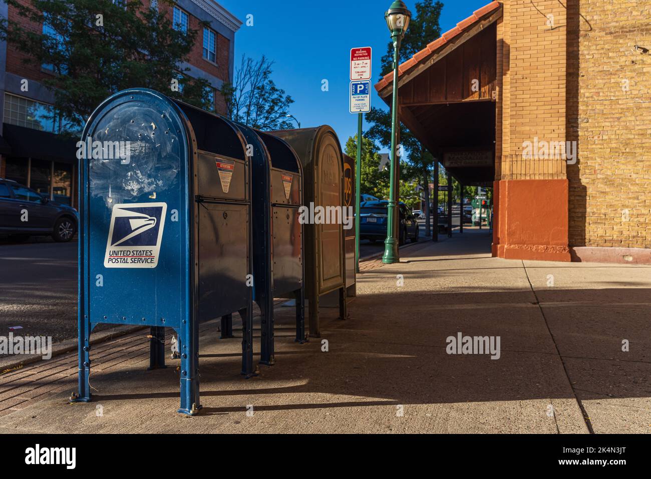
<svg viewBox="0 0 651 479">
<path fill-rule="evenodd" d="M 276 308 L 276 365 L 253 379 L 240 338 L 202 325 L 197 417 L 175 413 L 178 360 L 146 371 L 143 331 L 92 350 L 89 404 L 67 402 L 75 354 L 2 374 L 0 432 L 651 431 L 651 267 L 491 258 L 466 228 L 362 269 L 352 319 L 323 308 L 321 338 L 296 344 Z M 499 336 L 499 359 L 447 354 L 458 333 Z"/>
</svg>

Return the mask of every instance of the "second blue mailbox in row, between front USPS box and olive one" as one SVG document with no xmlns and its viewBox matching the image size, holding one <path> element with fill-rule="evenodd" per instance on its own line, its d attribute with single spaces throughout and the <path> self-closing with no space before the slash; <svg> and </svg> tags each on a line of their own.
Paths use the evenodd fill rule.
<svg viewBox="0 0 651 479">
<path fill-rule="evenodd" d="M 283 140 L 236 124 L 247 141 L 251 162 L 254 299 L 260 307 L 260 363 L 275 363 L 273 298 L 296 299 L 296 340 L 305 341 L 303 281 L 303 170 Z M 232 316 L 222 331 L 232 329 Z"/>
</svg>

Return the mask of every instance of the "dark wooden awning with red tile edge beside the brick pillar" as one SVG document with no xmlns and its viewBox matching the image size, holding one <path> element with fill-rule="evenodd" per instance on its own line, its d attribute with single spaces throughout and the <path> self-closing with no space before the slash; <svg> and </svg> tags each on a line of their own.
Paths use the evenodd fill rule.
<svg viewBox="0 0 651 479">
<path fill-rule="evenodd" d="M 460 21 L 399 66 L 400 120 L 432 154 L 446 151 L 495 151 L 497 100 L 497 1 Z M 375 85 L 387 104 L 393 96 L 393 74 Z M 464 184 L 491 182 L 490 166 L 449 167 Z"/>
</svg>

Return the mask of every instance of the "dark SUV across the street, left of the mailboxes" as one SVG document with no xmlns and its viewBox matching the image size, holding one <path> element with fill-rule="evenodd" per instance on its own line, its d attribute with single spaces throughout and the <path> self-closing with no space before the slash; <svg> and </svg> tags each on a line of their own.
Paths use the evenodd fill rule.
<svg viewBox="0 0 651 479">
<path fill-rule="evenodd" d="M 0 234 L 16 239 L 51 235 L 70 241 L 77 232 L 77 210 L 42 197 L 31 188 L 0 178 Z"/>
</svg>

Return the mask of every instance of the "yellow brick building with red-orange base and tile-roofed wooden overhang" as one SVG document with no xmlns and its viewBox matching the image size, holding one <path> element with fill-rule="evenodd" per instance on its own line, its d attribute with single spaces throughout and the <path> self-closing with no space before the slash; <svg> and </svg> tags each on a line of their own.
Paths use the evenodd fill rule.
<svg viewBox="0 0 651 479">
<path fill-rule="evenodd" d="M 650 17 L 493 1 L 400 65 L 402 122 L 462 184 L 493 186 L 493 256 L 651 263 Z"/>
</svg>

